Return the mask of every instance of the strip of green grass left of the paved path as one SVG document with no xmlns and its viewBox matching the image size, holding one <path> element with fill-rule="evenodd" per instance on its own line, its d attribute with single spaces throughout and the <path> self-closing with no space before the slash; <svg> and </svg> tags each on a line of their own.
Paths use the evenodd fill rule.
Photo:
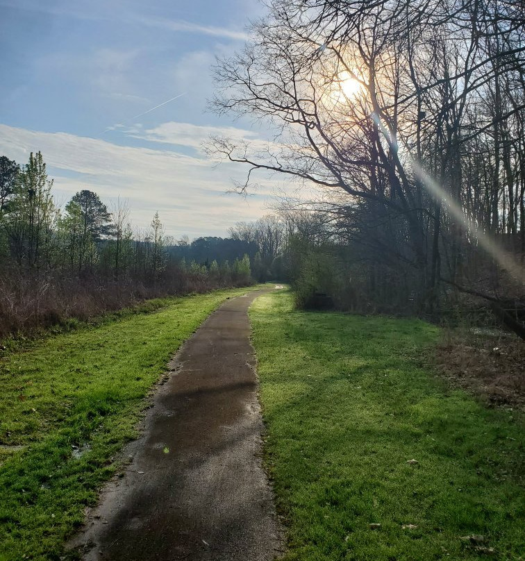
<svg viewBox="0 0 525 561">
<path fill-rule="evenodd" d="M 136 437 L 170 356 L 226 297 L 247 290 L 167 299 L 150 314 L 45 337 L 0 360 L 1 561 L 60 559 L 119 467 L 113 458 Z"/>
</svg>

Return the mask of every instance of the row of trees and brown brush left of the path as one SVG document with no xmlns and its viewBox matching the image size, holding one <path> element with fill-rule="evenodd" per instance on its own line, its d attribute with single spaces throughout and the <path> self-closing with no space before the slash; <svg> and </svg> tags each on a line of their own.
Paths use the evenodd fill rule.
<svg viewBox="0 0 525 561">
<path fill-rule="evenodd" d="M 247 285 L 253 247 L 166 235 L 158 212 L 133 228 L 126 203 L 108 210 L 90 190 L 59 208 L 42 153 L 25 165 L 0 157 L 0 336 L 86 319 L 168 294 Z M 208 244 L 209 246 L 209 244 Z"/>
</svg>

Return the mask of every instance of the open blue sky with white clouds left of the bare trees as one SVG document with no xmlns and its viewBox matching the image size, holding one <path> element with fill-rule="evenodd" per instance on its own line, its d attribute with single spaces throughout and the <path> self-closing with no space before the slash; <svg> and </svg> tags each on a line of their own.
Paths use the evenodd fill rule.
<svg viewBox="0 0 525 561">
<path fill-rule="evenodd" d="M 135 226 L 158 210 L 176 237 L 270 212 L 275 179 L 246 200 L 225 194 L 242 168 L 200 147 L 210 133 L 264 136 L 206 112 L 215 57 L 242 49 L 262 13 L 256 0 L 0 0 L 0 155 L 40 150 L 58 203 L 119 196 Z"/>
</svg>

